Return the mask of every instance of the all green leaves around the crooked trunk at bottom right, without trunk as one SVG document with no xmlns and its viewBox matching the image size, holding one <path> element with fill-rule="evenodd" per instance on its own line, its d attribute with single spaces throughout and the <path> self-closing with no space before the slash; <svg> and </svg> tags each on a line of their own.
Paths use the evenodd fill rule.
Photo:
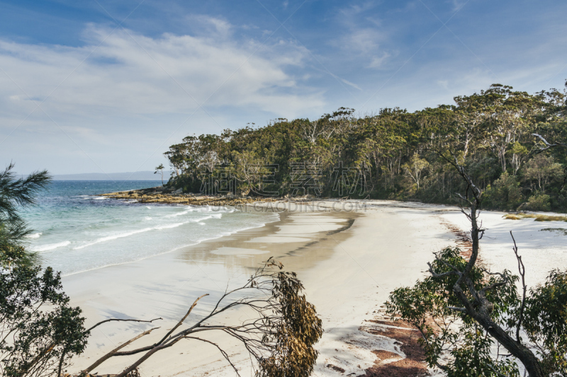
<svg viewBox="0 0 567 377">
<path fill-rule="evenodd" d="M 465 265 L 458 248 L 446 248 L 437 253 L 432 269 L 442 274 L 452 267 L 463 271 Z M 522 298 L 516 291 L 518 277 L 507 271 L 503 276 L 506 279 L 500 282 L 505 284 L 486 292 L 486 298 L 493 303 L 490 318 L 510 334 L 514 334 L 522 318 L 522 330 L 537 349 L 544 371 L 549 376 L 567 376 L 567 272 L 555 269 L 544 284 L 530 289 L 523 312 Z M 470 277 L 477 291 L 498 282 L 494 274 L 478 267 L 473 267 Z M 515 359 L 495 355 L 493 346 L 498 342 L 473 318 L 452 309 L 461 305 L 453 293 L 457 278 L 430 276 L 415 286 L 395 289 L 386 311 L 420 330 L 427 364 L 442 369 L 449 377 L 519 377 Z"/>
</svg>

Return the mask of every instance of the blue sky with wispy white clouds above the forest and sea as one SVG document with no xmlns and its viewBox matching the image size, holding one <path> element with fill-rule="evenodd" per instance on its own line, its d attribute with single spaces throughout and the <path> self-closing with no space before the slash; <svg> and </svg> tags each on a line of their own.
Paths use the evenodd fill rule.
<svg viewBox="0 0 567 377">
<path fill-rule="evenodd" d="M 167 166 L 189 134 L 567 79 L 567 1 L 0 0 L 0 168 Z"/>
</svg>

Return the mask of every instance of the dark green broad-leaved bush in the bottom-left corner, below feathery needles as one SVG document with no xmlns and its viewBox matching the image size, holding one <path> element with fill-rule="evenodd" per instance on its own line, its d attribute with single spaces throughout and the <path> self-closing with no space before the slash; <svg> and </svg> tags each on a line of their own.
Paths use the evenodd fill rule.
<svg viewBox="0 0 567 377">
<path fill-rule="evenodd" d="M 81 309 L 69 306 L 60 274 L 15 265 L 0 272 L 0 371 L 52 376 L 83 352 L 88 333 Z"/>
</svg>

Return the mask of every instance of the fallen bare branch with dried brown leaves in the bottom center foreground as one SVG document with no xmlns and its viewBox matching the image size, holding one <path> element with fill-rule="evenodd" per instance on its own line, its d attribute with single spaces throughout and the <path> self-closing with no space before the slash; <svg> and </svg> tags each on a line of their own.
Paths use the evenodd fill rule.
<svg viewBox="0 0 567 377">
<path fill-rule="evenodd" d="M 186 324 L 193 308 L 201 298 L 208 296 L 207 294 L 197 298 L 184 317 L 158 342 L 121 351 L 159 327 L 142 332 L 102 356 L 80 375 L 88 375 L 112 357 L 141 355 L 137 361 L 117 375 L 124 377 L 136 371 L 144 361 L 157 352 L 172 347 L 181 340 L 196 340 L 215 346 L 240 376 L 223 345 L 203 337 L 205 332 L 222 331 L 243 344 L 251 356 L 252 368 L 257 376 L 309 376 L 318 355 L 313 344 L 318 342 L 322 335 L 322 323 L 316 315 L 315 307 L 301 295 L 303 290 L 301 281 L 294 272 L 285 272 L 282 267 L 280 262 L 270 258 L 243 286 L 225 291 L 213 309 L 200 320 L 191 325 Z M 239 325 L 209 324 L 221 313 L 239 308 L 251 309 L 254 313 L 253 318 Z"/>
</svg>

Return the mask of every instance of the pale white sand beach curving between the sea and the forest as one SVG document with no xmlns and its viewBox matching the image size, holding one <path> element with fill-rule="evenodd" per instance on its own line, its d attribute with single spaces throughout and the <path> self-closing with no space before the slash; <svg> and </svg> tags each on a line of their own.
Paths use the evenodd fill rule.
<svg viewBox="0 0 567 377">
<path fill-rule="evenodd" d="M 371 334 L 369 330 L 381 325 L 369 320 L 376 318 L 393 289 L 425 276 L 426 263 L 432 260 L 434 251 L 456 245 L 456 235 L 448 224 L 464 231 L 468 224 L 456 207 L 374 200 L 366 204 L 349 207 L 348 211 L 334 210 L 338 209 L 337 202 L 320 202 L 308 208 L 294 204 L 281 211 L 279 221 L 262 228 L 64 277 L 72 303 L 84 308 L 86 326 L 106 318 L 163 318 L 152 325 L 109 323 L 97 328 L 85 354 L 69 371 L 79 371 L 120 342 L 159 326 L 128 349 L 151 344 L 184 315 L 196 297 L 209 293 L 186 320 L 192 323 L 227 286 L 242 284 L 271 256 L 297 272 L 308 301 L 315 304 L 322 318 L 325 333 L 317 344 L 320 356 L 313 376 L 364 375 L 376 362 L 373 351 L 377 350 L 405 356 L 395 340 Z M 350 210 L 353 208 L 356 210 Z M 502 216 L 498 212 L 481 215 L 483 226 L 488 228 L 481 241 L 481 257 L 487 267 L 515 272 L 508 233 L 512 230 L 530 285 L 542 282 L 551 268 L 567 268 L 567 236 L 541 231 L 567 228 L 566 223 L 511 221 Z M 223 320 L 238 322 L 246 315 L 239 311 Z M 224 345 L 242 376 L 252 374 L 242 347 L 223 336 L 211 336 Z M 109 359 L 96 372 L 118 373 L 137 356 Z M 140 373 L 235 376 L 215 347 L 198 341 L 179 342 L 155 354 L 142 364 Z"/>
</svg>

